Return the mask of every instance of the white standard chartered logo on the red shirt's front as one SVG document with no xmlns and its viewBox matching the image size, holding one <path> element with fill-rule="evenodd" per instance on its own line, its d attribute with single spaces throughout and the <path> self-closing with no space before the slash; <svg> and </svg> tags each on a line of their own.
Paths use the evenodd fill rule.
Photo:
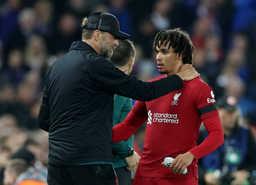
<svg viewBox="0 0 256 185">
<path fill-rule="evenodd" d="M 154 113 L 152 117 L 152 112 L 151 110 L 148 111 L 148 119 L 147 119 L 147 124 L 152 124 L 152 121 L 155 123 L 179 123 L 178 115 L 177 114 L 161 114 L 161 113 Z"/>
</svg>

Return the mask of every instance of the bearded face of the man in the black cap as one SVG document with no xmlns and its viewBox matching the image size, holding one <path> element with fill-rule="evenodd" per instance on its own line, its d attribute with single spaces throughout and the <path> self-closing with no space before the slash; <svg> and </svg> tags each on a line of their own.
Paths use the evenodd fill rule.
<svg viewBox="0 0 256 185">
<path fill-rule="evenodd" d="M 113 50 L 118 46 L 118 40 L 108 32 L 102 32 L 102 34 L 103 37 L 100 43 L 101 56 L 110 58 L 113 54 Z"/>
</svg>

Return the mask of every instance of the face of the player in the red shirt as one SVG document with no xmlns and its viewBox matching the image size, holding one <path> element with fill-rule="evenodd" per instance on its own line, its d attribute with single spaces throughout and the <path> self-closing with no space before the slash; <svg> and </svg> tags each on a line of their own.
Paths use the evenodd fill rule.
<svg viewBox="0 0 256 185">
<path fill-rule="evenodd" d="M 163 41 L 165 43 L 165 41 Z M 168 49 L 168 42 L 166 46 L 162 44 L 160 48 L 156 46 L 156 60 L 157 68 L 160 74 L 167 74 L 167 76 L 179 72 L 179 68 L 183 65 L 182 57 L 178 53 L 173 52 L 172 46 Z"/>
</svg>

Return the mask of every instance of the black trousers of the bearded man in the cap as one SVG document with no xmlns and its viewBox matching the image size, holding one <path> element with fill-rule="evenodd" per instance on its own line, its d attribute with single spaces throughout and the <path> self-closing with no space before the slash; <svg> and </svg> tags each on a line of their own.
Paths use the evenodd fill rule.
<svg viewBox="0 0 256 185">
<path fill-rule="evenodd" d="M 74 165 L 63 168 L 48 165 L 49 185 L 118 185 L 110 164 Z"/>
</svg>

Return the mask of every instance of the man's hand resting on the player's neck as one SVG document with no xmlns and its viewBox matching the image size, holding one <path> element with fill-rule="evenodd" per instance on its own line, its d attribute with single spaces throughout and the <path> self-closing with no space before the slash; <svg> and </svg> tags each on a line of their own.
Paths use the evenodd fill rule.
<svg viewBox="0 0 256 185">
<path fill-rule="evenodd" d="M 189 81 L 200 76 L 191 64 L 182 65 L 176 75 L 178 75 L 183 81 Z"/>
</svg>

